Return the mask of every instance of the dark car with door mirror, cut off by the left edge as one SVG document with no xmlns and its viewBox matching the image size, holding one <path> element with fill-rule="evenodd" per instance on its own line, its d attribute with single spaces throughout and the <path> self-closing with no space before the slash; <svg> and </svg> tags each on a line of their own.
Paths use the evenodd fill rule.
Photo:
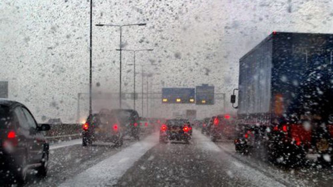
<svg viewBox="0 0 333 187">
<path fill-rule="evenodd" d="M 42 131 L 49 129 L 48 124 L 38 125 L 23 104 L 0 99 L 1 177 L 23 183 L 30 169 L 37 170 L 39 176 L 46 176 L 49 143 Z"/>
</svg>

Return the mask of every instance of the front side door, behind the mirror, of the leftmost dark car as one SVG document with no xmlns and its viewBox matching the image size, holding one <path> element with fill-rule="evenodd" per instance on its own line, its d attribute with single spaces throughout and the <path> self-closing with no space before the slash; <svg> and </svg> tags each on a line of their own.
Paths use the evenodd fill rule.
<svg viewBox="0 0 333 187">
<path fill-rule="evenodd" d="M 30 113 L 30 111 L 25 107 L 22 107 L 22 110 L 27 119 L 31 136 L 33 138 L 32 144 L 30 145 L 32 160 L 34 162 L 38 162 L 41 160 L 43 154 L 43 148 L 44 148 L 43 134 L 41 131 L 37 130 L 37 123 L 32 114 Z"/>
</svg>

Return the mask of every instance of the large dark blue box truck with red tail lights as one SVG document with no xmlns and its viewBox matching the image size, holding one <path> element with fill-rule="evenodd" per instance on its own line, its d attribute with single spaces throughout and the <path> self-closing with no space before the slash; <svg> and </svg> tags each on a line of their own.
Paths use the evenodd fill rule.
<svg viewBox="0 0 333 187">
<path fill-rule="evenodd" d="M 333 34 L 273 32 L 240 58 L 236 151 L 331 162 L 332 50 Z"/>
</svg>

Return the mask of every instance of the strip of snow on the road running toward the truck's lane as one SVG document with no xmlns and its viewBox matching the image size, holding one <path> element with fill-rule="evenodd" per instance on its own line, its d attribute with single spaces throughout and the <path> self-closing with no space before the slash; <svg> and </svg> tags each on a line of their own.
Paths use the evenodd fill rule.
<svg viewBox="0 0 333 187">
<path fill-rule="evenodd" d="M 226 154 L 224 149 L 221 149 L 208 137 L 201 134 L 198 130 L 193 130 L 193 136 L 199 139 L 197 144 L 198 148 L 220 152 L 219 158 L 224 160 L 224 163 L 232 163 L 230 165 L 225 165 L 225 171 L 230 177 L 235 176 L 237 178 L 245 179 L 248 181 L 248 184 L 251 184 L 252 186 L 285 186 L 274 178 L 271 178 L 258 171 L 257 169 L 247 164 L 241 163 L 239 160 L 235 159 L 229 154 Z"/>
</svg>

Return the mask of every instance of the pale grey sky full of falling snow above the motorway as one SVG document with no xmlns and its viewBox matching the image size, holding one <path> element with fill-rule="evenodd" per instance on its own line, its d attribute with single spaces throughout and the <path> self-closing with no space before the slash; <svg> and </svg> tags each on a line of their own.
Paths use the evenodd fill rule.
<svg viewBox="0 0 333 187">
<path fill-rule="evenodd" d="M 77 94 L 89 91 L 89 6 L 78 0 L 0 2 L 0 81 L 9 81 L 9 98 L 26 104 L 39 122 L 58 116 L 74 122 Z M 93 24 L 147 23 L 123 30 L 123 48 L 154 48 L 137 55 L 138 65 L 158 64 L 146 68 L 161 74 L 150 79 L 154 92 L 212 84 L 226 93 L 227 110 L 238 83 L 238 59 L 272 31 L 333 33 L 332 0 L 96 0 L 93 13 Z M 119 91 L 117 48 L 116 27 L 93 27 L 94 92 Z M 133 89 L 133 67 L 126 65 L 132 57 L 123 53 L 124 92 Z M 80 117 L 86 117 L 87 97 L 81 102 Z M 132 107 L 132 101 L 124 102 Z M 116 98 L 94 103 L 95 110 L 118 107 Z M 222 112 L 223 102 L 174 106 L 155 100 L 152 107 L 160 116 L 196 108 L 203 117 Z"/>
</svg>

